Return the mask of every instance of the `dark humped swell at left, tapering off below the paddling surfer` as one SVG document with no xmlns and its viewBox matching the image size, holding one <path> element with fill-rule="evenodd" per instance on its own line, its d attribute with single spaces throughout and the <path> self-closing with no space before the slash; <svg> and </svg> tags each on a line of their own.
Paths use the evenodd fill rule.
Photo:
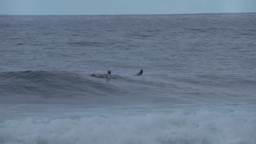
<svg viewBox="0 0 256 144">
<path fill-rule="evenodd" d="M 17 71 L 0 73 L 0 96 L 18 96 L 26 102 L 38 98 L 76 99 L 118 92 L 111 84 L 102 84 L 64 71 Z"/>
</svg>

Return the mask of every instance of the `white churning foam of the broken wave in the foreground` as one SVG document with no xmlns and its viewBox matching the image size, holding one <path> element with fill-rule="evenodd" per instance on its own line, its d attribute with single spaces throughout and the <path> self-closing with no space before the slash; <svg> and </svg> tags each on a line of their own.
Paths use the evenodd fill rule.
<svg viewBox="0 0 256 144">
<path fill-rule="evenodd" d="M 255 144 L 256 112 L 6 120 L 0 144 Z"/>
</svg>

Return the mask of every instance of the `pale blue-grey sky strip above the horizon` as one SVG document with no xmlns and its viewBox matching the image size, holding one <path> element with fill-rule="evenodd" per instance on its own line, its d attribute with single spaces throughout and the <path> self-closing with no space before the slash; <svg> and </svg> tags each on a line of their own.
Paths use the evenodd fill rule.
<svg viewBox="0 0 256 144">
<path fill-rule="evenodd" d="M 0 15 L 256 12 L 256 0 L 0 0 Z"/>
</svg>

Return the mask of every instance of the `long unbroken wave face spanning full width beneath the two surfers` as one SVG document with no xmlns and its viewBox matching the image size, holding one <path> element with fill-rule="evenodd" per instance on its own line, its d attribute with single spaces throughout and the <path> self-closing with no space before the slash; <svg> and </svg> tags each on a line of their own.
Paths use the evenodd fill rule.
<svg viewBox="0 0 256 144">
<path fill-rule="evenodd" d="M 256 84 L 254 80 L 218 75 L 154 75 L 112 74 L 107 79 L 65 71 L 1 72 L 0 96 L 2 103 L 39 104 L 155 103 L 161 100 L 168 104 L 255 100 L 252 93 Z"/>
</svg>

